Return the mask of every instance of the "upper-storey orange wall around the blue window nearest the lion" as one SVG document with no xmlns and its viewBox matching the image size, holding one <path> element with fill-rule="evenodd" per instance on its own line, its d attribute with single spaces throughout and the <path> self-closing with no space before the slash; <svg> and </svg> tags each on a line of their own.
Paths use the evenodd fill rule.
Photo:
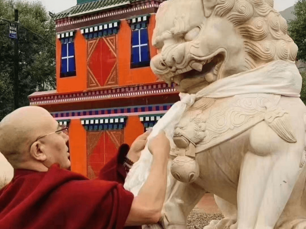
<svg viewBox="0 0 306 229">
<path fill-rule="evenodd" d="M 151 15 L 148 24 L 148 36 L 151 58 L 157 50 L 152 46 L 151 38 L 155 27 L 155 15 Z M 150 67 L 130 69 L 131 64 L 131 27 L 126 20 L 121 20 L 118 33 L 118 74 L 119 85 L 131 85 L 156 82 L 156 77 Z"/>
</svg>

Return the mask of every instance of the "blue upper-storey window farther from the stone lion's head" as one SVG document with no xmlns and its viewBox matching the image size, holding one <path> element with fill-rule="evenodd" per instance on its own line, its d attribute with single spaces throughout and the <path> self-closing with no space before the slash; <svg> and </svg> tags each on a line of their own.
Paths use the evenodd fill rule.
<svg viewBox="0 0 306 229">
<path fill-rule="evenodd" d="M 75 63 L 74 43 L 64 42 L 62 44 L 61 77 L 75 76 Z"/>
</svg>

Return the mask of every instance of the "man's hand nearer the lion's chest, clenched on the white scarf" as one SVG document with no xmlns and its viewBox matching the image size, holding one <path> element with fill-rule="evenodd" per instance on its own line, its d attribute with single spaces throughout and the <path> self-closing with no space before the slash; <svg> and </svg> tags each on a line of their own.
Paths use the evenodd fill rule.
<svg viewBox="0 0 306 229">
<path fill-rule="evenodd" d="M 170 153 L 170 142 L 165 132 L 162 131 L 157 136 L 153 137 L 149 141 L 148 148 L 153 156 L 168 158 Z"/>
</svg>

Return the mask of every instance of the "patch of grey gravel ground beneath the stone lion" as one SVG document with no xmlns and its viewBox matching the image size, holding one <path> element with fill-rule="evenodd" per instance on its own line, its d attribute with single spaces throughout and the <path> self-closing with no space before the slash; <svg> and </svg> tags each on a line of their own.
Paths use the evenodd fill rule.
<svg viewBox="0 0 306 229">
<path fill-rule="evenodd" d="M 186 226 L 187 229 L 203 229 L 211 220 L 221 219 L 223 219 L 222 214 L 207 214 L 200 209 L 193 209 L 187 218 Z"/>
</svg>

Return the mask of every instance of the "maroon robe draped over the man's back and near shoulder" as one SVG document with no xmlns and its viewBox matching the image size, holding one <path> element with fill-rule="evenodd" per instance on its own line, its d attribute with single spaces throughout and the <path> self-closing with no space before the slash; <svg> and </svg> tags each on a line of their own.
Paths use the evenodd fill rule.
<svg viewBox="0 0 306 229">
<path fill-rule="evenodd" d="M 47 172 L 16 169 L 0 190 L 1 229 L 122 229 L 133 194 L 122 184 L 52 165 Z"/>
</svg>

